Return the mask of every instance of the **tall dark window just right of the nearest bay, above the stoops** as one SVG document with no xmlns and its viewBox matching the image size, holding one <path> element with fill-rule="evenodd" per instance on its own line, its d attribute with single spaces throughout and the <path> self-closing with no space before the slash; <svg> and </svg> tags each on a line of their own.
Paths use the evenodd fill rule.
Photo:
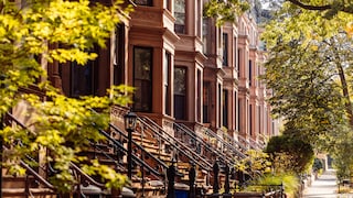
<svg viewBox="0 0 353 198">
<path fill-rule="evenodd" d="M 186 120 L 186 68 L 174 68 L 174 116 L 176 120 Z"/>
</svg>

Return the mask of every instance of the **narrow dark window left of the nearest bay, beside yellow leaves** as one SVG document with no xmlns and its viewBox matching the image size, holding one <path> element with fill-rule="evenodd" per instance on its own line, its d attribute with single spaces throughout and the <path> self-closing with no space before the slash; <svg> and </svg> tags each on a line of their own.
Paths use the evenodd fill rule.
<svg viewBox="0 0 353 198">
<path fill-rule="evenodd" d="M 124 84 L 124 50 L 125 31 L 122 25 L 118 25 L 115 31 L 115 51 L 114 51 L 114 85 Z"/>
</svg>

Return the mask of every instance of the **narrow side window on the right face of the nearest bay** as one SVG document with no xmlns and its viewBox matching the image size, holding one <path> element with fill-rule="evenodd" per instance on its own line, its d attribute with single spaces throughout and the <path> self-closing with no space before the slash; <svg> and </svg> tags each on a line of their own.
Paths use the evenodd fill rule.
<svg viewBox="0 0 353 198">
<path fill-rule="evenodd" d="M 170 70 L 171 70 L 171 54 L 165 52 L 164 68 L 163 68 L 163 87 L 164 87 L 164 113 L 171 116 L 170 107 Z"/>
</svg>

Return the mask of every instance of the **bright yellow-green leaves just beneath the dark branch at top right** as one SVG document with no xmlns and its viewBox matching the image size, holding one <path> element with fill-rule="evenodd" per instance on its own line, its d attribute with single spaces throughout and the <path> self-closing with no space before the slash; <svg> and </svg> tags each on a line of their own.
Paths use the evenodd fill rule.
<svg viewBox="0 0 353 198">
<path fill-rule="evenodd" d="M 306 10 L 285 2 L 267 25 L 264 37 L 268 48 L 296 40 L 300 40 L 302 47 L 307 47 L 307 43 L 312 40 L 322 41 L 345 31 L 352 21 L 351 13 L 338 12 L 328 18 L 328 11 Z"/>
</svg>

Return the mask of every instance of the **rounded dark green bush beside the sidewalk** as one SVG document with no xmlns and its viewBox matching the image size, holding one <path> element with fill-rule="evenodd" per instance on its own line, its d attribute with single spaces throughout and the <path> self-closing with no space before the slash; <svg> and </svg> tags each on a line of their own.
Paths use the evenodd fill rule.
<svg viewBox="0 0 353 198">
<path fill-rule="evenodd" d="M 295 135 L 272 136 L 265 150 L 272 157 L 274 170 L 304 173 L 313 162 L 312 146 Z"/>
</svg>

